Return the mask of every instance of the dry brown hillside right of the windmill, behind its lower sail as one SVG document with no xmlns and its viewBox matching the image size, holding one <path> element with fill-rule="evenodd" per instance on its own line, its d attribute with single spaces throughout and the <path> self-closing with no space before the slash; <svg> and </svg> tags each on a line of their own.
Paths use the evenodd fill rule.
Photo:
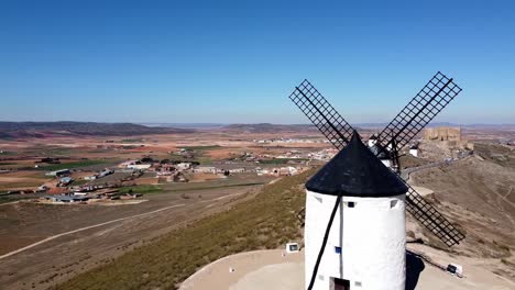
<svg viewBox="0 0 515 290">
<path fill-rule="evenodd" d="M 408 216 L 408 236 L 421 237 L 452 255 L 494 260 L 492 272 L 515 281 L 515 168 L 482 158 L 462 160 L 415 172 L 410 182 L 434 191 L 427 198 L 465 234 L 447 248 Z"/>
</svg>

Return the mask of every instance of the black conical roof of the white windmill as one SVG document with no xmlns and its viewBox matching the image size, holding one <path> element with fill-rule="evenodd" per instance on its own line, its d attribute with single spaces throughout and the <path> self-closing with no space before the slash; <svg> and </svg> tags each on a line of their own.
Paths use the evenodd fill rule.
<svg viewBox="0 0 515 290">
<path fill-rule="evenodd" d="M 407 187 L 361 142 L 354 131 L 351 141 L 307 182 L 309 191 L 347 197 L 393 197 Z"/>
</svg>

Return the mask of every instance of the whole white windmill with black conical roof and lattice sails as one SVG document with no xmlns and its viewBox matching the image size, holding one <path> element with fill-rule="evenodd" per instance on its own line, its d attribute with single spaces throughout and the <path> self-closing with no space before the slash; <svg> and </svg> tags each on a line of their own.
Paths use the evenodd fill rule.
<svg viewBox="0 0 515 290">
<path fill-rule="evenodd" d="M 340 150 L 306 183 L 307 289 L 404 290 L 405 209 L 447 246 L 464 238 L 398 175 L 399 149 L 460 92 L 438 71 L 366 148 L 309 81 L 295 88 L 289 99 Z"/>
</svg>

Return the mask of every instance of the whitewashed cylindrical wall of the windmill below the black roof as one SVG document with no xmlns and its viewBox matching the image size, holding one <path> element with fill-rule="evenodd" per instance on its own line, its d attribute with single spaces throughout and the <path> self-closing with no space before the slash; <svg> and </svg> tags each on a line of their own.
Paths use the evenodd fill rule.
<svg viewBox="0 0 515 290">
<path fill-rule="evenodd" d="M 336 199 L 307 191 L 306 287 Z M 354 202 L 354 208 L 348 208 L 348 202 Z M 337 254 L 335 247 L 341 247 L 341 254 Z M 343 197 L 314 289 L 331 289 L 331 277 L 337 277 L 350 280 L 351 289 L 404 290 L 405 247 L 405 194 L 390 198 Z"/>
</svg>

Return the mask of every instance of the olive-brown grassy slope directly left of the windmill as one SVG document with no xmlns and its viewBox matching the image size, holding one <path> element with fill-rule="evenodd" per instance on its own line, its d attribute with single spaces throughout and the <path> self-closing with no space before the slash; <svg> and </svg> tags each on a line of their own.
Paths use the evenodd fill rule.
<svg viewBox="0 0 515 290">
<path fill-rule="evenodd" d="M 196 270 L 227 255 L 300 241 L 296 214 L 305 202 L 302 185 L 313 172 L 267 185 L 229 211 L 173 231 L 53 289 L 177 289 Z"/>
</svg>

